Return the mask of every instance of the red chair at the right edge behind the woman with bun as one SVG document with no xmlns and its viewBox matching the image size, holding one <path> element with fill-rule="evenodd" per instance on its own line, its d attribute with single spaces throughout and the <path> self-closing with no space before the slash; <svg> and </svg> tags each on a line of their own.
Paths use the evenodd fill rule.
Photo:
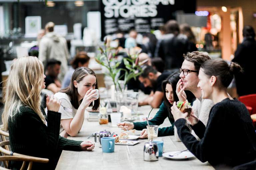
<svg viewBox="0 0 256 170">
<path fill-rule="evenodd" d="M 246 108 L 248 109 L 251 115 L 252 122 L 255 127 L 256 119 L 254 119 L 254 117 L 256 116 L 256 94 L 243 95 L 240 96 L 238 100 L 245 104 Z"/>
</svg>

